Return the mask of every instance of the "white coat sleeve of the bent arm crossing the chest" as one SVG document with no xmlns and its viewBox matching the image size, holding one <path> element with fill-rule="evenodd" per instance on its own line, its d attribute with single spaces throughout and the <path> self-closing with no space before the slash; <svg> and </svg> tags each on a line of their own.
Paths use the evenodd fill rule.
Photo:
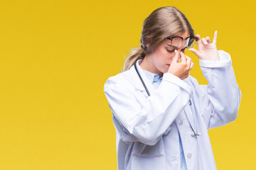
<svg viewBox="0 0 256 170">
<path fill-rule="evenodd" d="M 164 74 L 159 88 L 145 103 L 138 103 L 141 91 L 125 76 L 110 77 L 104 86 L 114 118 L 124 132 L 146 145 L 155 145 L 191 98 L 192 90 L 172 74 Z"/>
</svg>

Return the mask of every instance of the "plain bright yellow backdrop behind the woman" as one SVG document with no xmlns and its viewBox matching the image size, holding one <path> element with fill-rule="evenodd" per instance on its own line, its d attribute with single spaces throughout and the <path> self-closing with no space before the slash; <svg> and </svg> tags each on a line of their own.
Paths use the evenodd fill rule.
<svg viewBox="0 0 256 170">
<path fill-rule="evenodd" d="M 255 168 L 255 2 L 0 1 L 0 169 L 117 169 L 103 93 L 154 9 L 176 6 L 229 52 L 242 91 L 235 122 L 209 130 L 218 169 Z M 191 75 L 207 84 L 195 64 Z M 246 166 L 246 168 L 245 168 Z"/>
</svg>

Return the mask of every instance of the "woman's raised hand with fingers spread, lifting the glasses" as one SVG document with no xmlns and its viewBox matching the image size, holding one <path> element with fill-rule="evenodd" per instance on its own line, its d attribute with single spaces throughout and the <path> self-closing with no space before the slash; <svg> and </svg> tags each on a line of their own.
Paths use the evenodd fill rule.
<svg viewBox="0 0 256 170">
<path fill-rule="evenodd" d="M 218 55 L 218 50 L 216 47 L 216 41 L 217 41 L 217 30 L 214 33 L 213 37 L 213 43 L 210 43 L 210 38 L 200 38 L 200 35 L 196 35 L 196 38 L 198 38 L 197 44 L 198 44 L 198 50 L 191 48 L 188 49 L 191 52 L 193 52 L 195 55 L 198 56 L 201 60 L 220 60 L 220 57 Z"/>
</svg>

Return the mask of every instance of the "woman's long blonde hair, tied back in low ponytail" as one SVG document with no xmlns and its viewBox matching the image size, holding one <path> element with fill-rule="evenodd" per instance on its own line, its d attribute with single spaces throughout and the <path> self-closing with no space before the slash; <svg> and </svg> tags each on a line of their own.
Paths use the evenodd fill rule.
<svg viewBox="0 0 256 170">
<path fill-rule="evenodd" d="M 123 72 L 132 67 L 137 60 L 144 59 L 166 37 L 194 31 L 186 16 L 173 6 L 157 8 L 144 21 L 142 27 L 141 47 L 134 48 L 124 62 Z"/>
</svg>

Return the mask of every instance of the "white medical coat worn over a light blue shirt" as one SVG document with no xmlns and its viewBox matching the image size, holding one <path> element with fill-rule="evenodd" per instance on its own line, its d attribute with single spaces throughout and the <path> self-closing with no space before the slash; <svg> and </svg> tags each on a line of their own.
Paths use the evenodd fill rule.
<svg viewBox="0 0 256 170">
<path fill-rule="evenodd" d="M 178 132 L 188 170 L 216 169 L 208 130 L 237 118 L 241 96 L 230 55 L 221 50 L 219 55 L 219 61 L 199 60 L 207 86 L 191 76 L 181 80 L 165 73 L 154 90 L 138 62 L 151 96 L 134 66 L 107 80 L 104 91 L 117 130 L 119 170 L 180 169 Z M 184 111 L 201 136 L 191 135 Z"/>
</svg>

